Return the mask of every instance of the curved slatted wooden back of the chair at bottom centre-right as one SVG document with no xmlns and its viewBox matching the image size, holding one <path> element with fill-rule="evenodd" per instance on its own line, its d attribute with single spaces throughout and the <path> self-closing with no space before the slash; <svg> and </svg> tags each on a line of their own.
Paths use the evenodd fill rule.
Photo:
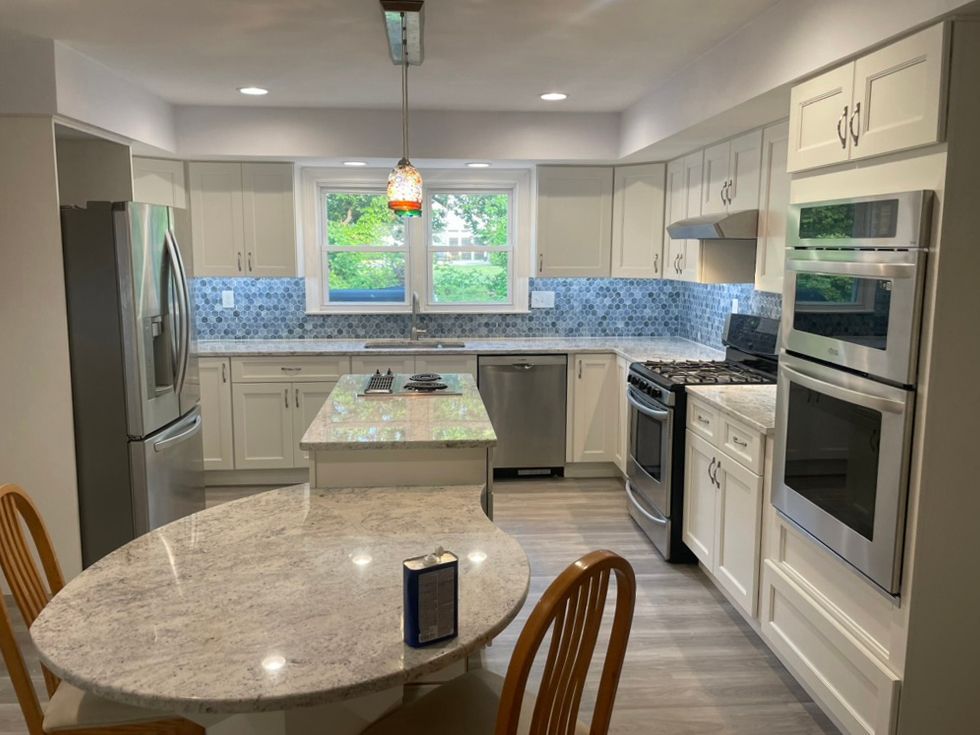
<svg viewBox="0 0 980 735">
<path fill-rule="evenodd" d="M 591 735 L 606 735 L 636 600 L 633 568 L 611 551 L 593 551 L 569 566 L 535 606 L 507 669 L 496 735 L 517 733 L 531 667 L 549 631 L 551 642 L 528 733 L 574 735 L 613 574 L 616 575 L 616 611 L 591 726 Z"/>
</svg>

